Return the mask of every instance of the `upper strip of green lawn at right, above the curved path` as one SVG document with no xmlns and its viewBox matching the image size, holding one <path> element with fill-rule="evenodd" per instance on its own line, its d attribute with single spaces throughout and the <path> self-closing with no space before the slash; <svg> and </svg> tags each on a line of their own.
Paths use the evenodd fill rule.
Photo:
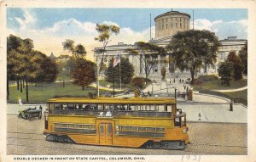
<svg viewBox="0 0 256 162">
<path fill-rule="evenodd" d="M 223 90 L 223 89 L 236 89 L 247 86 L 247 80 L 230 81 L 230 86 L 221 85 L 221 80 L 205 81 L 201 84 L 191 85 L 195 90 Z"/>
</svg>

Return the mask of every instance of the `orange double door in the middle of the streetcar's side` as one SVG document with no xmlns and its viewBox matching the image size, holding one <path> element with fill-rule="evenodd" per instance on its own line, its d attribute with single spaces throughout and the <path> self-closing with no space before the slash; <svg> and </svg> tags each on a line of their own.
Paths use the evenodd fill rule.
<svg viewBox="0 0 256 162">
<path fill-rule="evenodd" d="M 113 128 L 111 123 L 100 123 L 99 133 L 100 133 L 100 144 L 102 145 L 112 145 L 113 142 Z"/>
</svg>

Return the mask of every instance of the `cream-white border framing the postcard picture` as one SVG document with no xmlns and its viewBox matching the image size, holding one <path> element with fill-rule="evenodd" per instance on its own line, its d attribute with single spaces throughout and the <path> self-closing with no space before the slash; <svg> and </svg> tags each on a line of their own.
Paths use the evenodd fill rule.
<svg viewBox="0 0 256 162">
<path fill-rule="evenodd" d="M 256 113 L 254 108 L 256 105 L 255 99 L 255 66 L 256 63 L 256 3 L 253 0 L 185 0 L 182 1 L 171 1 L 171 0 L 27 0 L 27 1 L 0 1 L 0 81 L 1 81 L 1 92 L 0 92 L 0 116 L 1 116 L 1 152 L 0 161 L 13 161 L 14 156 L 6 155 L 6 5 L 7 7 L 15 8 L 247 8 L 248 9 L 248 125 L 247 125 L 247 155 L 206 155 L 201 156 L 201 161 L 209 162 L 223 162 L 223 161 L 256 161 Z M 2 47 L 2 48 L 1 48 Z M 5 123 L 5 124 L 3 124 Z M 26 156 L 22 156 L 26 157 Z M 35 157 L 35 156 L 31 156 Z M 44 156 L 45 157 L 45 156 Z M 70 157 L 70 156 L 68 156 Z M 150 155 L 143 156 L 146 160 L 142 161 L 181 161 L 182 156 L 171 156 L 171 155 Z M 192 157 L 192 156 L 191 156 Z M 24 160 L 22 160 L 24 161 Z M 32 160 L 30 160 L 32 161 Z M 68 160 L 69 161 L 69 160 Z M 108 160 L 110 161 L 110 160 Z M 117 160 L 116 160 L 117 161 Z M 125 161 L 125 160 L 122 160 Z M 183 160 L 185 162 L 185 160 Z M 194 161 L 190 159 L 189 161 Z"/>
</svg>

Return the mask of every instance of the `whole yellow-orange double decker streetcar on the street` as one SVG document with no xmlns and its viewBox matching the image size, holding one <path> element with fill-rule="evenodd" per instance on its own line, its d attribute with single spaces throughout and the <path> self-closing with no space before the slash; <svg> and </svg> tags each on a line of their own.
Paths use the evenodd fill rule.
<svg viewBox="0 0 256 162">
<path fill-rule="evenodd" d="M 45 113 L 53 142 L 183 149 L 187 131 L 174 98 L 51 98 Z"/>
</svg>

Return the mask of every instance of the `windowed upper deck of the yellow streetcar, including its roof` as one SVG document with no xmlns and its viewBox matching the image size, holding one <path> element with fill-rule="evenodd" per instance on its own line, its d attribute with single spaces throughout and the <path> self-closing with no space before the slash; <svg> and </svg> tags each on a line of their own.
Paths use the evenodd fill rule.
<svg viewBox="0 0 256 162">
<path fill-rule="evenodd" d="M 172 117 L 174 98 L 51 98 L 50 115 Z"/>
</svg>

